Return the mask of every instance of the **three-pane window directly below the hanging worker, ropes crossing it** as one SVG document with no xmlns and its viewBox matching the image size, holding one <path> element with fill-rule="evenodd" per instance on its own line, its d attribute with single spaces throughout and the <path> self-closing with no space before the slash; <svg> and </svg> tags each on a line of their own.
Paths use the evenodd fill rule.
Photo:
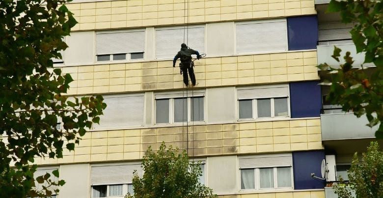
<svg viewBox="0 0 383 198">
<path fill-rule="evenodd" d="M 156 124 L 204 121 L 204 91 L 155 94 Z"/>
</svg>

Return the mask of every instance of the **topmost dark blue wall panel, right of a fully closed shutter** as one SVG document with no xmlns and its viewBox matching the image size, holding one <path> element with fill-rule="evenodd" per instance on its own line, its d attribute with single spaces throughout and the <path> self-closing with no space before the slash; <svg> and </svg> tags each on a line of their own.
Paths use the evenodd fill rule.
<svg viewBox="0 0 383 198">
<path fill-rule="evenodd" d="M 287 35 L 289 38 L 289 50 L 317 49 L 317 16 L 287 18 Z"/>
</svg>

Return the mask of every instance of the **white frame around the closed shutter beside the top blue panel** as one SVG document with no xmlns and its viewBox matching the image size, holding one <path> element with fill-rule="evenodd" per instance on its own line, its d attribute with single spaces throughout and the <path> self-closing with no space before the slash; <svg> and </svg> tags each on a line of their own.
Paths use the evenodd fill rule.
<svg viewBox="0 0 383 198">
<path fill-rule="evenodd" d="M 287 27 L 287 18 L 281 19 L 263 19 L 263 20 L 255 20 L 255 21 L 242 21 L 234 23 L 234 54 L 235 55 L 253 55 L 253 54 L 271 54 L 271 53 L 282 53 L 289 51 L 289 37 L 288 37 L 288 29 L 286 29 L 286 50 L 284 51 L 265 51 L 265 52 L 248 52 L 248 53 L 238 53 L 237 51 L 237 25 L 245 25 L 245 24 L 260 24 L 260 23 L 273 23 L 273 22 L 285 22 Z"/>
</svg>

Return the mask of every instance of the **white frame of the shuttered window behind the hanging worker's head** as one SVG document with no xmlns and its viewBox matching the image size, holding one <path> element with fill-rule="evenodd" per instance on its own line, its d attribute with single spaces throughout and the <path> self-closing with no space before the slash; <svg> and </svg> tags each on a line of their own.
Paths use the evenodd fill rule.
<svg viewBox="0 0 383 198">
<path fill-rule="evenodd" d="M 156 46 L 157 46 L 157 37 L 156 37 L 156 31 L 157 30 L 166 30 L 166 29 L 185 29 L 185 34 L 188 34 L 187 30 L 188 28 L 204 28 L 204 51 L 203 52 L 200 52 L 198 51 L 197 49 L 193 48 L 193 46 L 189 46 L 190 48 L 192 48 L 193 50 L 196 50 L 199 52 L 199 54 L 203 54 L 203 53 L 206 53 L 206 37 L 207 37 L 207 28 L 206 28 L 206 24 L 203 24 L 203 25 L 189 25 L 189 26 L 174 26 L 174 27 L 161 27 L 161 28 L 155 28 L 154 29 L 154 43 L 153 43 L 153 49 L 154 49 L 154 56 L 155 56 L 155 59 L 157 60 L 166 60 L 166 59 L 173 59 L 173 57 L 177 54 L 177 52 L 174 52 L 174 56 L 173 57 L 168 57 L 168 58 L 162 58 L 162 57 L 157 57 L 157 52 L 156 52 Z M 192 35 L 188 35 L 189 36 L 192 36 Z M 188 38 L 186 38 L 185 36 L 185 43 L 188 44 Z M 181 49 L 181 44 L 179 44 L 179 49 Z M 194 56 L 194 55 L 192 55 Z"/>
</svg>

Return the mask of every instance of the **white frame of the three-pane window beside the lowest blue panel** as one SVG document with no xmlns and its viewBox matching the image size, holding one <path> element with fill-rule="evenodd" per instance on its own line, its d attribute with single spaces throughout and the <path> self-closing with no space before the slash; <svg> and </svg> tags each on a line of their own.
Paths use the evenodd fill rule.
<svg viewBox="0 0 383 198">
<path fill-rule="evenodd" d="M 293 169 L 293 157 L 291 153 L 278 153 L 278 154 L 260 154 L 260 155 L 247 155 L 247 156 L 241 156 L 238 159 L 246 159 L 246 158 L 265 158 L 265 157 L 290 157 L 290 164 L 291 166 L 286 166 L 284 164 L 280 165 L 271 165 L 271 166 L 262 166 L 262 167 L 245 167 L 241 168 L 238 165 L 238 186 L 240 192 L 259 192 L 259 193 L 267 193 L 267 192 L 285 192 L 286 190 L 294 190 L 294 169 Z M 239 161 L 238 161 L 239 162 Z M 291 187 L 277 187 L 278 185 L 278 175 L 277 175 L 277 168 L 286 168 L 290 167 L 290 174 L 291 174 Z M 260 188 L 260 172 L 259 169 L 262 168 L 273 168 L 273 179 L 274 179 L 274 188 Z M 254 189 L 241 189 L 241 170 L 254 170 Z"/>
</svg>

